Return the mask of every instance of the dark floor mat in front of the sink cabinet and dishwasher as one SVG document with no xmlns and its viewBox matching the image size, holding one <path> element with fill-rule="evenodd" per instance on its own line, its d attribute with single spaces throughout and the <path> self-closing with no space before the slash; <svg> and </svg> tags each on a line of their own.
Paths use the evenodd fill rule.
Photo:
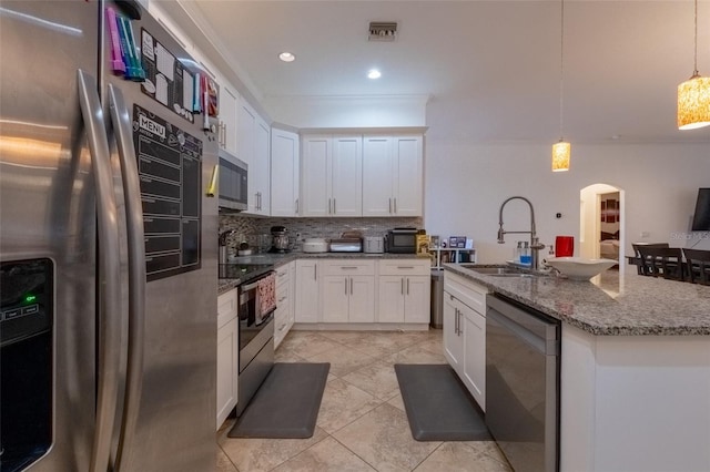
<svg viewBox="0 0 710 472">
<path fill-rule="evenodd" d="M 448 365 L 395 365 L 417 441 L 491 441 L 484 412 Z"/>
</svg>

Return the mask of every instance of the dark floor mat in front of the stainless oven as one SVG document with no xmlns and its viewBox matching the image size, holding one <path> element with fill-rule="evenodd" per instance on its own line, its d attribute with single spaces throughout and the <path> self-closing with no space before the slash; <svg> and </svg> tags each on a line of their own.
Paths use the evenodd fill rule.
<svg viewBox="0 0 710 472">
<path fill-rule="evenodd" d="M 311 438 L 329 363 L 275 363 L 230 438 Z"/>
</svg>

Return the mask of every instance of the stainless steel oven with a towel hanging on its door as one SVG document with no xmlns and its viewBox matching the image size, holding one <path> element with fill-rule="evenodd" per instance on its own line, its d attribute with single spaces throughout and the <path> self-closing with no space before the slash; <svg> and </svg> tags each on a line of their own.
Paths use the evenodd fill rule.
<svg viewBox="0 0 710 472">
<path fill-rule="evenodd" d="M 265 281 L 274 283 L 273 274 L 273 271 L 262 274 L 237 287 L 240 316 L 237 417 L 242 414 L 274 365 L 274 309 L 265 312 L 261 309 L 263 291 L 275 290 L 275 287 L 264 287 Z"/>
</svg>

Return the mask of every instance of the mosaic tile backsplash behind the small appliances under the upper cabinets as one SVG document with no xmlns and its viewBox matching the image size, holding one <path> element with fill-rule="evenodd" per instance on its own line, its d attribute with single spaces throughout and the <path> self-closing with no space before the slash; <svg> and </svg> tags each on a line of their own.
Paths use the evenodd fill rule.
<svg viewBox="0 0 710 472">
<path fill-rule="evenodd" d="M 233 235 L 227 237 L 230 253 L 236 252 L 242 242 L 253 249 L 268 250 L 272 226 L 285 226 L 292 247 L 298 250 L 304 238 L 332 239 L 341 237 L 345 230 L 361 230 L 363 236 L 384 236 L 394 227 L 420 228 L 422 218 L 262 218 L 240 214 L 220 215 L 220 233 L 234 229 Z"/>
</svg>

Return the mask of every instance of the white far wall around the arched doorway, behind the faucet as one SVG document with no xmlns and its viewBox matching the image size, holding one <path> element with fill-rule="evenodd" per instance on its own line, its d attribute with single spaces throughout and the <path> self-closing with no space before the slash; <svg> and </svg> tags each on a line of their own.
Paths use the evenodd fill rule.
<svg viewBox="0 0 710 472">
<path fill-rule="evenodd" d="M 710 185 L 710 143 L 585 145 L 572 140 L 570 171 L 552 173 L 551 143 L 453 142 L 437 138 L 435 124 L 428 124 L 425 227 L 443 237 L 473 237 L 479 263 L 509 259 L 515 240 L 528 239 L 528 235 L 506 235 L 505 245 L 496 244 L 498 208 L 507 197 L 521 195 L 532 202 L 544 244 L 552 244 L 556 235 L 578 240 L 579 192 L 595 183 L 626 191 L 627 254 L 637 240 L 689 247 L 704 237 L 696 247 L 710 248 L 709 234 L 689 233 L 698 187 Z M 558 212 L 561 218 L 556 218 Z M 527 230 L 527 207 L 511 202 L 504 222 L 506 230 Z M 641 232 L 648 237 L 641 238 Z M 684 235 L 694 239 L 686 240 Z"/>
</svg>

